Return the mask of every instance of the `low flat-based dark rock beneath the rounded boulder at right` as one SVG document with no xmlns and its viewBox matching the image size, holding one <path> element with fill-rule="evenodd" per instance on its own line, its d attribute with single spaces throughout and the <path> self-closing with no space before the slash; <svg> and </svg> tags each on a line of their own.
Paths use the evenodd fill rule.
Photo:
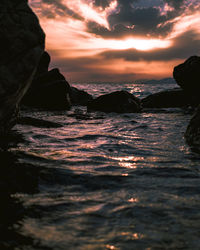
<svg viewBox="0 0 200 250">
<path fill-rule="evenodd" d="M 170 89 L 149 95 L 141 100 L 143 108 L 176 108 L 195 105 L 184 90 Z"/>
</svg>

